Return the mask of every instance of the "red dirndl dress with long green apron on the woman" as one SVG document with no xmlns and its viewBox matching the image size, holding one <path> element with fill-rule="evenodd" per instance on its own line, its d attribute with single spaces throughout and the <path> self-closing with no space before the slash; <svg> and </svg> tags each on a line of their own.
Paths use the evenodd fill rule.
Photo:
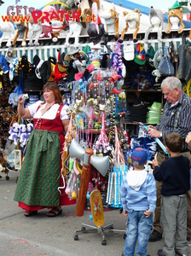
<svg viewBox="0 0 191 256">
<path fill-rule="evenodd" d="M 33 119 L 35 129 L 28 141 L 14 194 L 14 201 L 28 212 L 76 203 L 65 193 L 67 183 L 62 188 L 61 151 L 65 141 L 60 118 L 62 107 L 58 108 L 55 119 Z"/>
</svg>

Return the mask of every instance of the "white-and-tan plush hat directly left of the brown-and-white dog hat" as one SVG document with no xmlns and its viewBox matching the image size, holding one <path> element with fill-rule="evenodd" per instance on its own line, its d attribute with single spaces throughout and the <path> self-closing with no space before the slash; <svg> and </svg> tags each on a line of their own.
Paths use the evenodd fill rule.
<svg viewBox="0 0 191 256">
<path fill-rule="evenodd" d="M 119 38 L 119 13 L 116 11 L 115 5 L 113 3 L 113 9 L 107 10 L 104 5 L 101 5 L 102 15 L 106 22 L 106 31 L 108 33 L 114 33 L 116 38 Z"/>
</svg>

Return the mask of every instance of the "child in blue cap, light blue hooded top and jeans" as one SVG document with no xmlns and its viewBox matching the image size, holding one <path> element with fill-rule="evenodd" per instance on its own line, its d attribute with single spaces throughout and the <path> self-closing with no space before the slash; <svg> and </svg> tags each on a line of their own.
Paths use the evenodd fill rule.
<svg viewBox="0 0 191 256">
<path fill-rule="evenodd" d="M 133 150 L 131 160 L 133 171 L 127 172 L 121 184 L 121 201 L 127 220 L 127 236 L 124 256 L 147 256 L 148 238 L 153 226 L 153 212 L 156 207 L 156 183 L 152 174 L 144 169 L 148 154 L 142 148 Z"/>
</svg>

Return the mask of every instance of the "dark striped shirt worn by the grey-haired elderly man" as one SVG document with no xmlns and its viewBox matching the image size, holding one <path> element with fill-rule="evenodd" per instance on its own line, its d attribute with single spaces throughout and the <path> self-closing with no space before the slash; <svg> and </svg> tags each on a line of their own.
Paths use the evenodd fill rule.
<svg viewBox="0 0 191 256">
<path fill-rule="evenodd" d="M 170 102 L 165 102 L 164 112 L 160 118 L 159 125 L 156 125 L 158 131 L 162 131 L 164 143 L 165 136 L 170 132 L 177 132 L 183 138 L 182 149 L 187 148 L 185 137 L 191 131 L 191 99 L 182 91 L 177 104 L 171 107 Z"/>
</svg>

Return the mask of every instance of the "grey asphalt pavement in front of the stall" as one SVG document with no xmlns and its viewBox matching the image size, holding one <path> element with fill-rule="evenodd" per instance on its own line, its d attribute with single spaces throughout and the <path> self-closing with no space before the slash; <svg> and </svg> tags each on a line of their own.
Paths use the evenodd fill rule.
<svg viewBox="0 0 191 256">
<path fill-rule="evenodd" d="M 123 233 L 106 233 L 107 245 L 101 245 L 101 234 L 84 233 L 74 241 L 74 232 L 81 230 L 82 223 L 94 225 L 84 211 L 82 217 L 75 216 L 75 207 L 62 207 L 62 214 L 55 218 L 46 216 L 47 209 L 37 215 L 25 217 L 24 211 L 14 201 L 14 190 L 20 172 L 4 173 L 0 179 L 0 256 L 117 256 L 124 248 Z M 113 222 L 113 229 L 125 230 L 126 217 L 119 209 L 104 212 L 104 224 Z M 163 240 L 148 242 L 148 254 L 156 256 L 163 247 Z M 191 241 L 188 245 L 191 255 Z"/>
</svg>

